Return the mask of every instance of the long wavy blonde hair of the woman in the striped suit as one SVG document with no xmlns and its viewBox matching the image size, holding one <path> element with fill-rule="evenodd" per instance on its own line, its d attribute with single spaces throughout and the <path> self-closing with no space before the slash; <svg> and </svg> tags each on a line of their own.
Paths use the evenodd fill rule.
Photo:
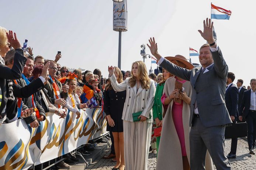
<svg viewBox="0 0 256 170">
<path fill-rule="evenodd" d="M 138 75 L 139 81 L 141 82 L 141 87 L 144 89 L 149 89 L 150 79 L 148 77 L 145 63 L 142 61 L 135 61 L 134 63 L 132 63 L 132 67 L 135 63 L 138 64 L 138 71 L 136 74 Z M 131 75 L 132 77 L 129 79 L 129 85 L 131 87 L 134 87 L 136 84 L 136 77 L 134 76 L 133 72 L 131 72 Z"/>
</svg>

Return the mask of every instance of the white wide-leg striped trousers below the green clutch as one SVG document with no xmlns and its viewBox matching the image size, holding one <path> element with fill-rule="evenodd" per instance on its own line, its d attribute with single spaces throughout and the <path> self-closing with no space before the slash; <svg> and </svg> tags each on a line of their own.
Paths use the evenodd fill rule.
<svg viewBox="0 0 256 170">
<path fill-rule="evenodd" d="M 125 170 L 147 170 L 152 123 L 123 120 Z"/>
</svg>

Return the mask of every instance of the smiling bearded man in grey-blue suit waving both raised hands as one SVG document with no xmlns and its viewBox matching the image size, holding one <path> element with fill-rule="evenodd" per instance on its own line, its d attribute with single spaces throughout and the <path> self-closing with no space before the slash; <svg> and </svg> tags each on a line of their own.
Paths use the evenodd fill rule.
<svg viewBox="0 0 256 170">
<path fill-rule="evenodd" d="M 226 77 L 228 66 L 212 36 L 213 22 L 204 21 L 204 31 L 198 30 L 209 44 L 200 48 L 199 60 L 202 67 L 187 70 L 172 64 L 158 53 L 157 43 L 149 40 L 151 53 L 158 64 L 184 80 L 190 81 L 192 97 L 190 104 L 190 168 L 205 169 L 208 150 L 217 170 L 230 170 L 231 164 L 225 156 L 224 132 L 231 124 L 225 105 Z"/>
</svg>

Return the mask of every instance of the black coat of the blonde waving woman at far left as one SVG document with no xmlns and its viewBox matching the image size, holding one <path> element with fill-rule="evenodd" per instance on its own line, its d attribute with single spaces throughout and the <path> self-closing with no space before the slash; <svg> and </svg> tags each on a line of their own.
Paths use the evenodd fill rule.
<svg viewBox="0 0 256 170">
<path fill-rule="evenodd" d="M 4 117 L 6 112 L 3 112 L 3 109 L 5 108 L 8 100 L 9 94 L 6 93 L 7 86 L 6 86 L 6 79 L 8 80 L 15 80 L 20 79 L 21 74 L 23 71 L 24 64 L 26 63 L 27 58 L 23 56 L 23 50 L 22 49 L 16 49 L 13 59 L 13 68 L 8 68 L 7 66 L 0 64 L 0 88 L 1 88 L 1 105 L 0 105 L 0 119 L 1 117 Z"/>
</svg>

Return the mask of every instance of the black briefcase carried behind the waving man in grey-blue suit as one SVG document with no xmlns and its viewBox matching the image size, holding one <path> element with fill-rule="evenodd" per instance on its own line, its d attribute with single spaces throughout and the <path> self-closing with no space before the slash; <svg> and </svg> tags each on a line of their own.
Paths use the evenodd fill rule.
<svg viewBox="0 0 256 170">
<path fill-rule="evenodd" d="M 247 123 L 232 123 L 225 129 L 225 139 L 247 137 Z"/>
</svg>

